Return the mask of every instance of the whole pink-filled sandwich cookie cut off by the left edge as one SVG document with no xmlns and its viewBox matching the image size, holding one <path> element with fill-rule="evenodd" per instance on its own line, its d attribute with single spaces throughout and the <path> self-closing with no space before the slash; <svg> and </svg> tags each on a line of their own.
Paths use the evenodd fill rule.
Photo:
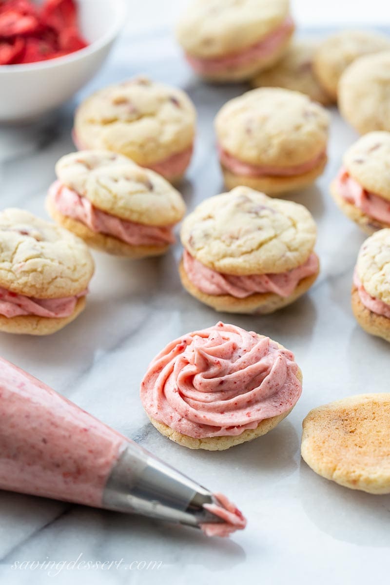
<svg viewBox="0 0 390 585">
<path fill-rule="evenodd" d="M 0 212 L 0 331 L 62 329 L 84 309 L 93 274 L 80 238 L 22 209 Z"/>
</svg>

